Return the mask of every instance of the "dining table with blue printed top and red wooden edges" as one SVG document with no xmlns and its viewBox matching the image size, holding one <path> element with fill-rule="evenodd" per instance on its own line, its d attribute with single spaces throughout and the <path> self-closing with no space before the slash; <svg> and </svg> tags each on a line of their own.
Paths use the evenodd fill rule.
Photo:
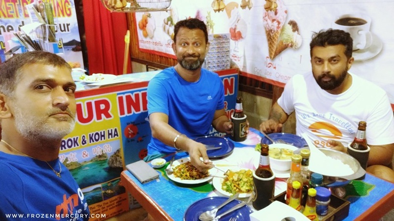
<svg viewBox="0 0 394 221">
<path fill-rule="evenodd" d="M 256 132 L 256 130 L 252 130 Z M 256 132 L 259 133 L 259 132 Z M 252 137 L 252 136 L 250 136 Z M 243 146 L 243 147 L 242 147 Z M 236 143 L 234 152 L 220 161 L 234 163 L 240 155 L 253 154 L 253 145 L 243 145 Z M 255 154 L 260 156 L 258 152 Z M 180 155 L 176 158 L 183 158 Z M 218 162 L 216 162 L 218 163 Z M 238 166 L 248 167 L 250 162 L 241 160 Z M 253 164 L 253 163 L 252 163 Z M 164 168 L 158 170 L 159 179 L 147 184 L 141 184 L 129 171 L 121 173 L 122 185 L 141 204 L 141 206 L 154 218 L 155 221 L 182 221 L 187 208 L 195 201 L 214 195 L 222 195 L 214 190 L 212 182 L 204 184 L 202 187 L 189 187 L 179 185 L 169 180 L 164 174 Z M 286 190 L 286 179 L 276 179 L 275 195 Z M 363 196 L 346 196 L 346 200 L 351 202 L 349 216 L 345 221 L 354 220 L 379 220 L 387 212 L 394 208 L 394 184 L 379 179 L 371 174 L 366 174 L 363 181 L 354 181 L 366 189 Z M 349 185 L 348 185 L 349 186 Z M 360 191 L 360 190 L 358 190 Z M 350 191 L 348 191 L 350 192 Z M 364 193 L 361 193 L 361 195 Z M 253 208 L 251 206 L 251 208 Z"/>
</svg>

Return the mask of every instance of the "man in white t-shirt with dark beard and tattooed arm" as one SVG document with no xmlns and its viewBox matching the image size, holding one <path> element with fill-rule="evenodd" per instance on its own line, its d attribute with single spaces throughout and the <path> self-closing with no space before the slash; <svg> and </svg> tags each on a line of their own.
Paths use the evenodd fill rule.
<svg viewBox="0 0 394 221">
<path fill-rule="evenodd" d="M 295 75 L 260 125 L 276 133 L 296 111 L 296 134 L 306 134 L 317 147 L 346 152 L 360 121 L 367 123 L 367 171 L 394 182 L 388 166 L 394 152 L 394 117 L 388 96 L 379 86 L 348 72 L 353 40 L 342 30 L 315 33 L 310 43 L 312 73 Z"/>
</svg>

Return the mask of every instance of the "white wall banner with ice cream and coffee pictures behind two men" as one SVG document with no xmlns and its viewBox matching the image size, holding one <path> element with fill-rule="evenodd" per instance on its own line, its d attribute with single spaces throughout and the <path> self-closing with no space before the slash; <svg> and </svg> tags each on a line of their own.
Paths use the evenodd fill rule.
<svg viewBox="0 0 394 221">
<path fill-rule="evenodd" d="M 175 57 L 177 21 L 198 18 L 209 34 L 229 34 L 231 67 L 242 75 L 284 86 L 311 71 L 313 32 L 336 28 L 351 33 L 350 72 L 385 89 L 394 109 L 394 0 L 172 0 L 169 11 L 135 13 L 141 51 Z"/>
</svg>

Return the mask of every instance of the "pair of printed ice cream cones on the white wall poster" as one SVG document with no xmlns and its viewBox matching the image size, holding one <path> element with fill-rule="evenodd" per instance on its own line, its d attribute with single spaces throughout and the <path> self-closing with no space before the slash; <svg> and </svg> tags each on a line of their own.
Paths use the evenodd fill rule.
<svg viewBox="0 0 394 221">
<path fill-rule="evenodd" d="M 302 38 L 296 21 L 286 23 L 287 8 L 282 0 L 266 0 L 263 24 L 268 43 L 269 58 L 274 59 L 287 48 L 297 49 Z"/>
</svg>

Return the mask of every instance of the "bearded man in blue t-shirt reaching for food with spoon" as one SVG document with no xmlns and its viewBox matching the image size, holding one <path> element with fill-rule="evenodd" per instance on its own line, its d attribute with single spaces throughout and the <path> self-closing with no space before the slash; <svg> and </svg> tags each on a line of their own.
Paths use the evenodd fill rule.
<svg viewBox="0 0 394 221">
<path fill-rule="evenodd" d="M 177 148 L 189 152 L 197 169 L 209 169 L 212 164 L 205 145 L 193 139 L 208 135 L 211 125 L 219 132 L 231 133 L 222 80 L 216 73 L 201 68 L 208 48 L 203 22 L 187 19 L 175 25 L 172 49 L 178 64 L 164 69 L 148 85 L 152 130 L 148 158 L 173 153 Z"/>
</svg>

